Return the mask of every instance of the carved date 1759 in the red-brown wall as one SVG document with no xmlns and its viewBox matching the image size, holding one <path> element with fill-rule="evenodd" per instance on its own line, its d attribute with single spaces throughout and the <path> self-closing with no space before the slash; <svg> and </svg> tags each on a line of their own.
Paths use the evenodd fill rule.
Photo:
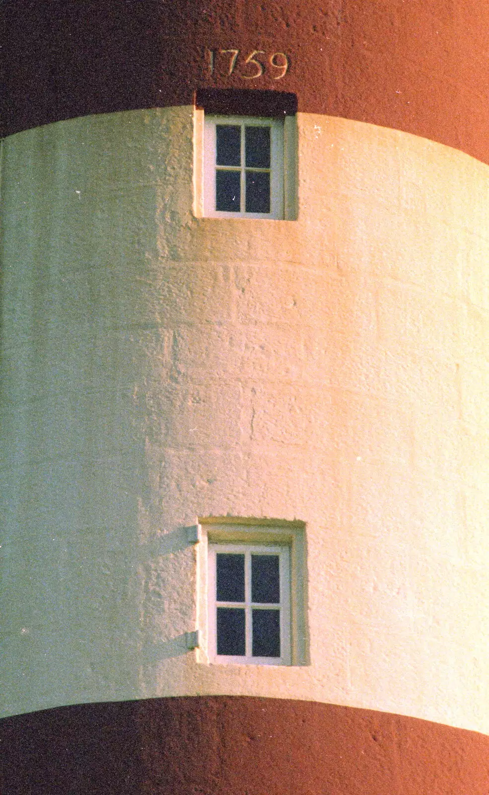
<svg viewBox="0 0 489 795">
<path fill-rule="evenodd" d="M 272 80 L 282 80 L 289 68 L 285 52 L 268 55 L 264 50 L 253 50 L 245 55 L 239 49 L 206 48 L 205 56 L 211 75 L 236 75 L 243 80 L 258 80 L 264 75 L 270 76 Z"/>
</svg>

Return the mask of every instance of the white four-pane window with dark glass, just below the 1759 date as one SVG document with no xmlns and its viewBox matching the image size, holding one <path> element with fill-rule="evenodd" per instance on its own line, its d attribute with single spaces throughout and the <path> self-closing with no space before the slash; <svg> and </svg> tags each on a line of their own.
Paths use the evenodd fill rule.
<svg viewBox="0 0 489 795">
<path fill-rule="evenodd" d="M 206 115 L 204 150 L 205 215 L 283 218 L 282 121 Z"/>
</svg>

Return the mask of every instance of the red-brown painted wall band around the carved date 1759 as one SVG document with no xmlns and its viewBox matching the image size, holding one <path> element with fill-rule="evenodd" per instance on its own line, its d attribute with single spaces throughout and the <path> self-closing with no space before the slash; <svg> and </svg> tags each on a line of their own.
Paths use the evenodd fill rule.
<svg viewBox="0 0 489 795">
<path fill-rule="evenodd" d="M 404 130 L 487 162 L 488 29 L 481 0 L 7 0 L 0 134 L 188 104 L 202 87 L 276 89 L 296 93 L 299 111 Z M 231 75 L 223 49 L 239 50 Z M 250 79 L 254 50 L 265 68 Z M 274 52 L 289 60 L 279 80 Z"/>
</svg>

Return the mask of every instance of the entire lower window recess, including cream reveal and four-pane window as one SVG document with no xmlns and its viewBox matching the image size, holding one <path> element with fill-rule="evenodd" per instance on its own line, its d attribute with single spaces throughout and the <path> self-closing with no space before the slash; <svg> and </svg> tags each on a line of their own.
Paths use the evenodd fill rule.
<svg viewBox="0 0 489 795">
<path fill-rule="evenodd" d="M 308 665 L 306 525 L 199 517 L 198 662 Z"/>
</svg>

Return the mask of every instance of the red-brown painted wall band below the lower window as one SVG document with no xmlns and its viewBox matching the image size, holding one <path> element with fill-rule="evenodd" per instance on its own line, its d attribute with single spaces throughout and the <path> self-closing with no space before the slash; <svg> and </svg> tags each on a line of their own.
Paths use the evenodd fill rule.
<svg viewBox="0 0 489 795">
<path fill-rule="evenodd" d="M 0 721 L 2 795 L 487 795 L 489 737 L 310 701 L 199 696 Z"/>
</svg>

